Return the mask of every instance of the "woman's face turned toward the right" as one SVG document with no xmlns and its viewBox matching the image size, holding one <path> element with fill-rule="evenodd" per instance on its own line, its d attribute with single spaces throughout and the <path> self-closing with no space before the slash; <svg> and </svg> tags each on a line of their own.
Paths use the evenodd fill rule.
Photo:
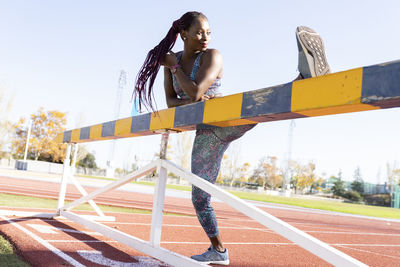
<svg viewBox="0 0 400 267">
<path fill-rule="evenodd" d="M 193 21 L 187 31 L 184 30 L 182 32 L 182 37 L 187 48 L 195 51 L 205 51 L 211 40 L 210 34 L 208 20 L 206 18 L 198 18 Z"/>
</svg>

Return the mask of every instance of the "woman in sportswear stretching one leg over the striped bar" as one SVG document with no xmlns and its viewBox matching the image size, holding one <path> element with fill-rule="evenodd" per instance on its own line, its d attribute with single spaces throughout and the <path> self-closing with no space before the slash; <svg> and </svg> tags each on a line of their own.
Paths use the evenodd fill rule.
<svg viewBox="0 0 400 267">
<path fill-rule="evenodd" d="M 297 32 L 299 33 L 299 28 Z M 306 51 L 304 41 L 301 38 L 299 40 L 301 34 L 296 36 L 298 36 L 298 42 L 304 47 L 301 48 L 301 60 L 302 62 L 306 60 L 306 63 L 301 66 L 299 63 L 299 69 L 301 67 L 306 70 L 305 72 L 308 71 L 311 74 L 314 71 L 314 75 L 311 76 L 315 76 L 314 66 L 309 66 L 310 64 L 307 62 L 307 60 L 312 60 L 312 55 L 310 55 L 310 51 Z M 183 40 L 184 50 L 175 54 L 171 49 L 178 35 Z M 317 36 L 314 38 L 318 39 Z M 148 53 L 137 76 L 135 96 L 139 98 L 139 108 L 142 104 L 153 108 L 152 86 L 161 64 L 165 66 L 164 89 L 168 107 L 205 101 L 220 96 L 223 62 L 218 50 L 208 48 L 210 40 L 210 27 L 204 14 L 187 12 L 180 19 L 174 21 L 167 36 Z M 313 61 L 312 64 L 314 63 Z M 299 75 L 298 78 L 307 76 L 306 73 Z M 148 81 L 149 84 L 147 84 Z M 241 125 L 221 128 L 197 125 L 192 150 L 192 173 L 215 183 L 223 154 L 229 144 L 254 126 Z M 228 250 L 221 241 L 210 198 L 208 193 L 193 186 L 192 202 L 199 222 L 210 239 L 211 246 L 203 254 L 192 256 L 192 259 L 208 264 L 228 265 Z"/>
</svg>

